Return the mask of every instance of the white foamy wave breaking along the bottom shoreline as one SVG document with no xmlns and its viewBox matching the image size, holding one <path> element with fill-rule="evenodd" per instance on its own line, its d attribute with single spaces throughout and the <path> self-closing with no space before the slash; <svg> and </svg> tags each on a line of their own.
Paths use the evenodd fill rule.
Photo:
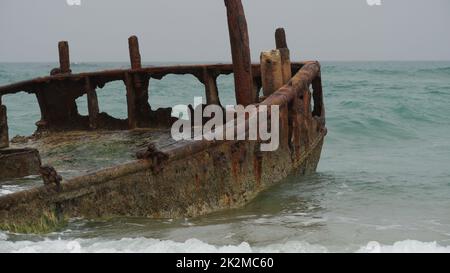
<svg viewBox="0 0 450 273">
<path fill-rule="evenodd" d="M 347 250 L 342 250 L 347 251 Z M 123 238 L 120 240 L 45 239 L 42 241 L 8 241 L 8 236 L 0 233 L 0 252 L 40 253 L 327 253 L 333 252 L 325 246 L 304 241 L 267 246 L 251 246 L 243 242 L 239 245 L 216 246 L 198 239 L 185 242 L 149 238 Z M 336 252 L 340 252 L 337 250 Z M 436 242 L 406 240 L 392 245 L 369 242 L 356 249 L 357 253 L 450 253 L 450 246 Z"/>
</svg>

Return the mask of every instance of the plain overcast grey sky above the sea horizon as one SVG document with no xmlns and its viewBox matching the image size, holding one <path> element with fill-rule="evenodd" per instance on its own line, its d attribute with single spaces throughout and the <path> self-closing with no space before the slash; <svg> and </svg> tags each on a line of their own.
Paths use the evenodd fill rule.
<svg viewBox="0 0 450 273">
<path fill-rule="evenodd" d="M 243 0 L 252 60 L 286 28 L 293 59 L 450 60 L 449 0 Z M 226 61 L 223 0 L 0 0 L 0 62 L 127 61 L 127 38 L 144 61 Z"/>
</svg>

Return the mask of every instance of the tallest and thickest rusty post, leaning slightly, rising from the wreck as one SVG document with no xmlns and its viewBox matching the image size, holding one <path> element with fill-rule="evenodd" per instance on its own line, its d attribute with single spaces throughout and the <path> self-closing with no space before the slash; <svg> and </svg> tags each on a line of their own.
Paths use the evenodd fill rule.
<svg viewBox="0 0 450 273">
<path fill-rule="evenodd" d="M 233 58 L 236 102 L 246 106 L 256 102 L 247 21 L 241 0 L 225 0 L 225 6 L 227 7 L 231 55 Z"/>
</svg>

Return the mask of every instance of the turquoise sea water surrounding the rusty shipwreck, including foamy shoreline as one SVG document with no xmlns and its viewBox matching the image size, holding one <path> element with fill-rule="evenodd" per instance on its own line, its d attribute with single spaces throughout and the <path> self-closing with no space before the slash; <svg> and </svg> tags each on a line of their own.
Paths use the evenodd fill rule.
<svg viewBox="0 0 450 273">
<path fill-rule="evenodd" d="M 44 76 L 51 63 L 0 63 L 0 85 Z M 127 67 L 73 64 L 74 72 Z M 195 219 L 73 220 L 48 235 L 0 232 L 0 252 L 450 252 L 450 62 L 322 63 L 328 136 L 316 174 L 289 177 L 246 207 Z M 153 108 L 193 103 L 192 76 L 150 82 Z M 234 103 L 231 76 L 221 101 Z M 122 83 L 101 111 L 126 116 Z M 3 97 L 10 137 L 30 135 L 34 96 Z M 80 99 L 81 113 L 86 101 Z M 0 194 L 11 189 L 0 185 Z"/>
</svg>

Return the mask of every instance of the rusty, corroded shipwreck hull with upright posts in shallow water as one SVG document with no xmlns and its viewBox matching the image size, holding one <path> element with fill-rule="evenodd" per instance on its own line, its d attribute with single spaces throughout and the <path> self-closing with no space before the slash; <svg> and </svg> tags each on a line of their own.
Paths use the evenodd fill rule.
<svg viewBox="0 0 450 273">
<path fill-rule="evenodd" d="M 50 76 L 1 86 L 0 184 L 36 175 L 41 185 L 0 196 L 0 229 L 47 232 L 74 217 L 195 217 L 242 206 L 291 173 L 314 172 L 327 132 L 319 63 L 291 62 L 285 32 L 277 29 L 276 49 L 251 64 L 241 1 L 225 4 L 232 64 L 143 67 L 132 36 L 130 69 L 74 74 L 68 43 L 60 42 L 60 67 Z M 168 74 L 195 76 L 205 86 L 208 105 L 221 105 L 216 79 L 223 74 L 234 75 L 236 104 L 278 105 L 278 150 L 263 152 L 260 141 L 250 140 L 173 141 L 171 109 L 153 110 L 148 96 L 149 81 Z M 99 109 L 96 89 L 112 81 L 124 83 L 127 119 Z M 1 96 L 22 91 L 36 96 L 42 117 L 33 136 L 12 143 Z M 82 96 L 87 116 L 77 110 L 75 100 Z M 73 164 L 81 162 L 85 172 L 69 177 L 48 164 L 55 153 L 70 152 L 56 149 L 58 143 L 76 147 L 92 141 L 94 147 L 130 134 L 126 160 L 90 171 L 81 163 L 95 153 L 81 154 Z"/>
</svg>

